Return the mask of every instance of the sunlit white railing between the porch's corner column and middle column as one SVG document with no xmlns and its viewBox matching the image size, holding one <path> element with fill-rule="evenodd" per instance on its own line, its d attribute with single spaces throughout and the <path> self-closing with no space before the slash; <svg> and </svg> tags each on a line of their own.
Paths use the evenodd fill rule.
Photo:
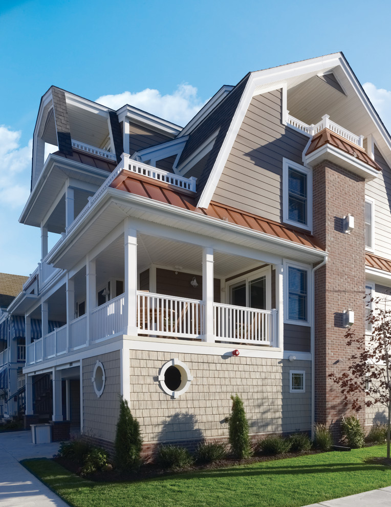
<svg viewBox="0 0 391 507">
<path fill-rule="evenodd" d="M 203 334 L 202 310 L 202 302 L 196 299 L 137 292 L 139 334 L 199 338 Z"/>
</svg>

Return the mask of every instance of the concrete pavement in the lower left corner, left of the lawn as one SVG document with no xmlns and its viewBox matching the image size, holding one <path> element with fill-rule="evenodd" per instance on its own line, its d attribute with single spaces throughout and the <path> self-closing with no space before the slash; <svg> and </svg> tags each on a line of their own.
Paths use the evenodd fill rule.
<svg viewBox="0 0 391 507">
<path fill-rule="evenodd" d="M 59 442 L 35 446 L 30 431 L 0 433 L 0 506 L 69 507 L 19 463 L 25 458 L 52 458 L 58 448 Z"/>
</svg>

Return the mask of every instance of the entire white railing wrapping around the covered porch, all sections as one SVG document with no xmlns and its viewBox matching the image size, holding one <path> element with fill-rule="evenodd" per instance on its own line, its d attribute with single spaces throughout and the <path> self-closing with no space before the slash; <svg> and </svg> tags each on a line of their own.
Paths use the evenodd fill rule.
<svg viewBox="0 0 391 507">
<path fill-rule="evenodd" d="M 26 364 L 49 360 L 123 333 L 126 327 L 124 294 L 90 314 L 84 314 L 26 347 Z M 137 291 L 137 328 L 140 336 L 202 340 L 204 304 L 196 299 Z M 277 310 L 213 304 L 214 338 L 218 342 L 277 346 Z M 69 327 L 69 329 L 68 329 Z M 69 343 L 68 343 L 69 340 Z M 5 357 L 0 354 L 0 361 Z"/>
</svg>

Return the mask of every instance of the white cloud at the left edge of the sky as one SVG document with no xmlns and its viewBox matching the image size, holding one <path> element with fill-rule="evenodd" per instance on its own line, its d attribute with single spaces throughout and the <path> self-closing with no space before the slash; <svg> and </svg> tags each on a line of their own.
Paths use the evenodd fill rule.
<svg viewBox="0 0 391 507">
<path fill-rule="evenodd" d="M 30 194 L 33 140 L 20 146 L 20 131 L 0 125 L 0 206 L 17 208 Z"/>
</svg>

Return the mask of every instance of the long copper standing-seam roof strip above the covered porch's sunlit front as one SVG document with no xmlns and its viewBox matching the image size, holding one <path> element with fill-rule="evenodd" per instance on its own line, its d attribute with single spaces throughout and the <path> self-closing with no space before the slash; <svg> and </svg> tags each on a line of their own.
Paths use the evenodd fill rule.
<svg viewBox="0 0 391 507">
<path fill-rule="evenodd" d="M 243 212 L 240 209 L 225 206 L 218 202 L 211 202 L 207 209 L 198 208 L 196 198 L 192 192 L 188 192 L 167 183 L 158 182 L 145 176 L 127 174 L 122 171 L 110 185 L 113 188 L 135 194 L 155 201 L 188 209 L 194 213 L 199 213 L 207 217 L 216 218 L 235 225 L 241 225 L 259 233 L 265 233 L 270 236 L 292 241 L 299 245 L 323 250 L 320 244 L 316 242 L 314 237 L 305 231 L 294 227 L 266 220 L 257 217 L 251 213 Z"/>
</svg>

